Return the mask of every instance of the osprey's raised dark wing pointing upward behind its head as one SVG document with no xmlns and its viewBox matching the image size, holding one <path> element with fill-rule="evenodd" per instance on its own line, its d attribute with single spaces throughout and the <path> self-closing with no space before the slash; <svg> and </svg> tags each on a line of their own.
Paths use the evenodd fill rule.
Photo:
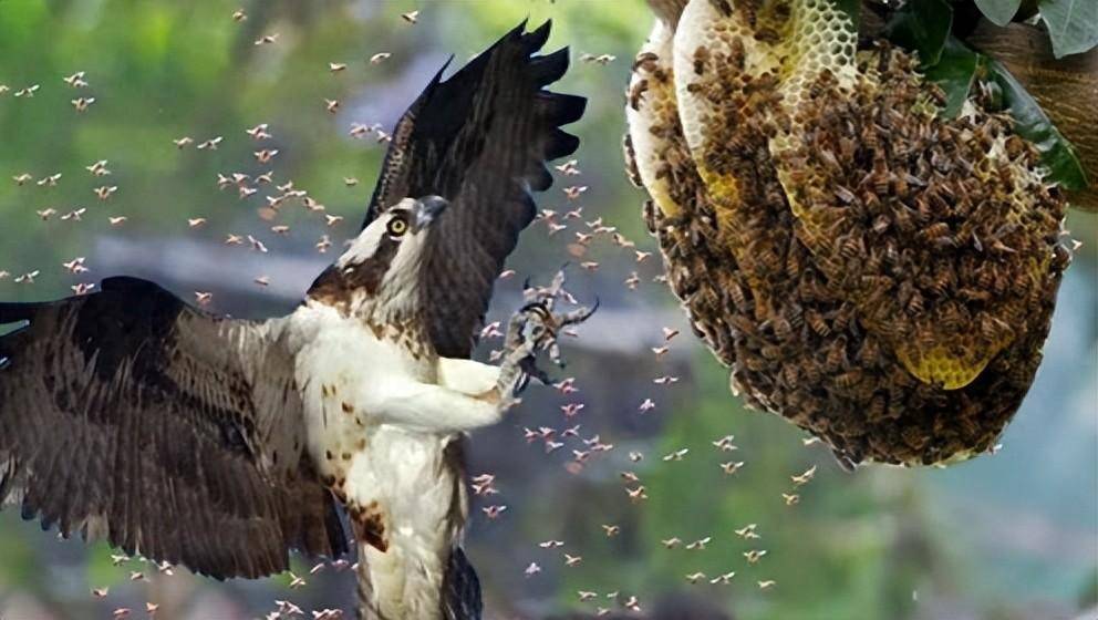
<svg viewBox="0 0 1098 620">
<path fill-rule="evenodd" d="M 472 353 L 493 285 L 534 219 L 530 192 L 552 184 L 546 162 L 579 146 L 559 127 L 578 121 L 587 100 L 545 90 L 568 69 L 568 50 L 534 55 L 549 25 L 525 33 L 522 23 L 448 80 L 439 71 L 397 123 L 371 199 L 365 224 L 404 197 L 450 203 L 419 280 L 443 356 Z"/>
</svg>

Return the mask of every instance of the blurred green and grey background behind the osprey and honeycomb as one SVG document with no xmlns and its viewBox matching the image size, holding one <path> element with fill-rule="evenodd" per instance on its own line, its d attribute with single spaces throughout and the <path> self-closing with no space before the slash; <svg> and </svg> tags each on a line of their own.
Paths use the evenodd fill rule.
<svg viewBox="0 0 1098 620">
<path fill-rule="evenodd" d="M 247 19 L 234 19 L 244 10 Z M 418 10 L 416 23 L 401 17 Z M 353 236 L 391 128 L 429 76 L 453 53 L 460 63 L 519 21 L 555 22 L 549 49 L 570 45 L 572 70 L 557 90 L 590 99 L 571 127 L 583 143 L 579 175 L 558 174 L 539 206 L 568 226 L 526 232 L 500 283 L 494 316 L 518 303 L 525 276 L 547 279 L 566 260 L 581 300 L 603 308 L 567 343 L 579 392 L 531 390 L 497 427 L 472 440 L 473 475 L 494 473 L 500 493 L 476 498 L 467 545 L 480 572 L 489 618 L 571 618 L 613 613 L 737 619 L 1059 619 L 1094 618 L 1098 604 L 1098 300 L 1096 218 L 1074 214 L 1084 240 L 1060 291 L 1053 332 L 1018 416 L 994 456 L 949 469 L 838 469 L 820 445 L 775 416 L 745 411 L 727 373 L 690 334 L 675 300 L 653 278 L 657 255 L 640 262 L 609 236 L 590 245 L 577 232 L 602 218 L 636 250 L 655 244 L 639 217 L 642 193 L 622 172 L 623 91 L 629 65 L 651 25 L 640 0 L 400 1 L 0 0 L 0 298 L 45 299 L 116 273 L 155 278 L 180 297 L 213 292 L 211 309 L 238 316 L 284 311 Z M 256 44 L 265 35 L 273 42 Z M 371 63 L 379 53 L 390 58 Z M 583 54 L 590 54 L 583 56 Z M 592 56 L 610 54 L 602 62 Z M 581 60 L 587 58 L 589 61 Z M 345 63 L 331 71 L 329 63 Z M 63 81 L 83 71 L 87 86 Z M 33 97 L 14 96 L 38 84 Z M 94 97 L 84 112 L 76 97 Z M 325 100 L 336 100 L 331 113 Z M 268 123 L 272 137 L 246 128 Z M 173 140 L 194 143 L 178 148 Z M 222 136 L 217 149 L 196 145 Z M 277 148 L 269 165 L 253 152 Z M 107 176 L 85 166 L 106 159 Z M 273 170 L 345 217 L 298 203 L 263 208 L 272 185 L 240 198 L 219 190 L 217 175 Z M 18 185 L 13 176 L 29 173 Z M 61 173 L 55 186 L 39 180 Z M 353 178 L 359 179 L 352 184 Z M 586 186 L 569 200 L 561 188 Z M 116 186 L 106 200 L 94 189 Z M 249 187 L 252 185 L 249 185 Z M 582 207 L 580 217 L 563 218 Z M 61 219 L 84 208 L 80 220 Z M 37 213 L 54 209 L 46 220 Z M 125 216 L 112 226 L 110 217 Z M 191 227 L 189 218 L 206 223 Z M 272 226 L 289 226 L 277 234 Z M 267 252 L 226 245 L 252 235 Z M 317 244 L 328 235 L 327 254 Z M 323 245 L 321 245 L 323 247 Z M 63 262 L 85 257 L 87 272 Z M 593 266 L 588 265 L 588 268 Z M 15 282 L 39 271 L 33 283 Z M 636 272 L 636 290 L 625 280 Z M 267 277 L 269 282 L 257 283 Z M 661 328 L 681 329 L 661 356 Z M 481 354 L 491 348 L 487 342 Z M 653 379 L 675 375 L 659 385 Z M 655 409 L 638 410 L 651 397 Z M 561 405 L 586 406 L 567 420 Z M 559 436 L 580 424 L 578 437 Z M 563 446 L 547 454 L 524 427 L 549 426 Z M 577 462 L 592 435 L 613 450 Z M 735 434 L 738 450 L 712 442 Z M 592 442 L 597 443 L 597 442 Z M 662 457 L 690 448 L 681 461 Z M 644 458 L 632 462 L 630 452 Z M 725 475 L 719 464 L 743 461 Z M 817 466 L 794 493 L 790 476 Z M 640 477 L 648 499 L 631 503 L 621 472 Z M 635 487 L 636 485 L 630 485 Z M 506 505 L 488 519 L 481 508 Z M 755 523 L 760 538 L 734 533 Z M 617 525 L 608 537 L 602 525 Z M 702 550 L 667 549 L 709 537 Z M 561 540 L 560 548 L 538 544 Z M 748 564 L 744 552 L 766 550 Z M 568 567 L 563 552 L 581 556 Z M 531 562 L 540 572 L 527 576 Z M 117 608 L 157 618 L 259 618 L 291 600 L 308 614 L 350 609 L 349 572 L 331 567 L 290 588 L 290 577 L 214 582 L 183 569 L 167 576 L 139 560 L 113 566 L 103 545 L 59 541 L 0 513 L 0 618 L 110 618 Z M 691 585 L 686 575 L 704 572 Z M 728 585 L 709 578 L 735 571 Z M 134 578 L 137 580 L 134 580 Z M 773 580 L 762 589 L 759 581 Z M 108 588 L 104 598 L 93 588 Z M 578 591 L 597 598 L 580 601 Z M 614 596 L 614 592 L 618 592 Z M 642 611 L 622 606 L 638 597 Z M 1089 611 L 1088 611 L 1089 610 Z M 1087 614 L 1089 613 L 1089 614 Z"/>
</svg>

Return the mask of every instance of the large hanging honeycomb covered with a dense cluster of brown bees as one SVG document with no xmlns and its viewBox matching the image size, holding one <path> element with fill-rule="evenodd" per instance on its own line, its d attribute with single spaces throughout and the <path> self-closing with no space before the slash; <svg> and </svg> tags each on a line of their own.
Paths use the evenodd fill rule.
<svg viewBox="0 0 1098 620">
<path fill-rule="evenodd" d="M 848 466 L 990 451 L 1070 261 L 1034 145 L 831 2 L 652 4 L 626 162 L 733 392 Z"/>
</svg>

